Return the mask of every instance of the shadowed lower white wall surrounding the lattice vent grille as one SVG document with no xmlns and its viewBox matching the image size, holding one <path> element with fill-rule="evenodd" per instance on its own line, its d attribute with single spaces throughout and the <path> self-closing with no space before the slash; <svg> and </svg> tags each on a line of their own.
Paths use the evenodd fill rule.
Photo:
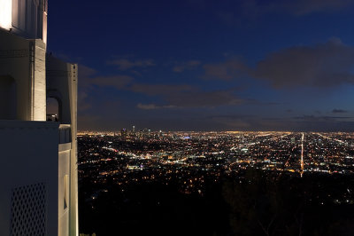
<svg viewBox="0 0 354 236">
<path fill-rule="evenodd" d="M 10 235 L 12 189 L 45 183 L 47 235 L 58 234 L 58 123 L 0 121 L 0 235 Z"/>
</svg>

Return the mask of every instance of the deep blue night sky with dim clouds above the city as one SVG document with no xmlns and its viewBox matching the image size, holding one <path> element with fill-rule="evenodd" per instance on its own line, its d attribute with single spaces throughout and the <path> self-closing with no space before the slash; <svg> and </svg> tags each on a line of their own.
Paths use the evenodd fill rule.
<svg viewBox="0 0 354 236">
<path fill-rule="evenodd" d="M 50 1 L 80 130 L 354 130 L 354 1 Z"/>
</svg>

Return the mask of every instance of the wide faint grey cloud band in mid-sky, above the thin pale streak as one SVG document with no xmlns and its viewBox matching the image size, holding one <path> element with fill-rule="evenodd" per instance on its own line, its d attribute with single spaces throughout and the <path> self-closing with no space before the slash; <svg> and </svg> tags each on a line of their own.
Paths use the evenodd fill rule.
<svg viewBox="0 0 354 236">
<path fill-rule="evenodd" d="M 169 84 L 134 84 L 129 90 L 152 97 L 159 97 L 165 102 L 164 106 L 148 105 L 139 108 L 171 108 L 171 107 L 215 107 L 239 105 L 244 102 L 235 96 L 232 90 L 198 90 L 189 85 Z"/>
</svg>

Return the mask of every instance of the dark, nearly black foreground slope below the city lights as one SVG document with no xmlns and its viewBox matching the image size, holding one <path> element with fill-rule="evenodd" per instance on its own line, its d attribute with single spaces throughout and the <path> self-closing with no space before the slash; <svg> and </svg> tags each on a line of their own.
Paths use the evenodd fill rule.
<svg viewBox="0 0 354 236">
<path fill-rule="evenodd" d="M 181 179 L 124 190 L 112 178 L 80 180 L 80 232 L 96 235 L 354 235 L 354 178 L 247 170 L 205 179 L 183 193 Z"/>
</svg>

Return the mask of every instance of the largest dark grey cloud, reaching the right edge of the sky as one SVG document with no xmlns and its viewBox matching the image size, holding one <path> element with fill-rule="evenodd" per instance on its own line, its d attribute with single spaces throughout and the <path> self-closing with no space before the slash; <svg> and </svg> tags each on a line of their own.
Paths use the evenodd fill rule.
<svg viewBox="0 0 354 236">
<path fill-rule="evenodd" d="M 204 78 L 219 80 L 250 76 L 274 88 L 335 87 L 354 83 L 354 47 L 332 38 L 327 43 L 294 46 L 266 55 L 254 68 L 238 59 L 205 65 Z"/>
</svg>

